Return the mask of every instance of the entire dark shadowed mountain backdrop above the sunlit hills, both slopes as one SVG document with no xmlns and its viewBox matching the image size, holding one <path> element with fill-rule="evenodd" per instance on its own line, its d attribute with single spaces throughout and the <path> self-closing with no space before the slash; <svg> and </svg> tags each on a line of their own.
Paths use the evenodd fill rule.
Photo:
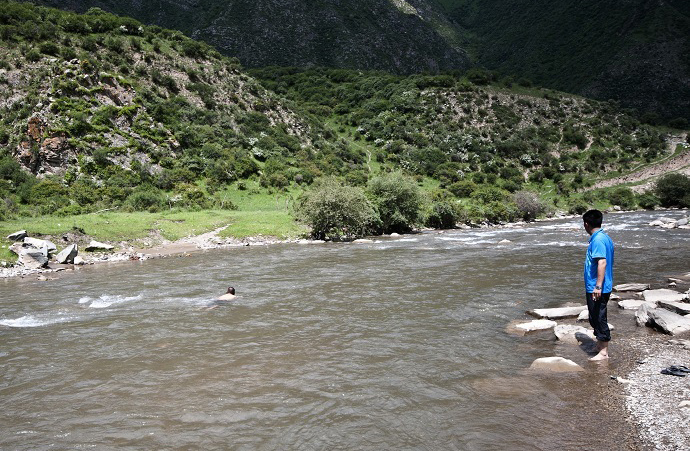
<svg viewBox="0 0 690 451">
<path fill-rule="evenodd" d="M 685 0 L 42 0 L 174 28 L 248 67 L 465 70 L 690 118 Z"/>
</svg>

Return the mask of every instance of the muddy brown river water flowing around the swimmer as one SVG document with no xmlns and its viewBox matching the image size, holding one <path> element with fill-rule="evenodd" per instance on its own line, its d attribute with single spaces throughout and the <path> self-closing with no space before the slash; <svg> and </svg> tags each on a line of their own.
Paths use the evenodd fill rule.
<svg viewBox="0 0 690 451">
<path fill-rule="evenodd" d="M 661 215 L 682 212 L 606 216 L 617 283 L 690 270 L 690 231 L 647 225 Z M 610 445 L 596 387 L 620 365 L 615 334 L 641 333 L 632 314 L 611 309 L 605 366 L 549 333 L 504 330 L 583 300 L 586 242 L 568 219 L 0 281 L 0 448 Z M 204 309 L 228 285 L 236 302 Z M 526 370 L 552 355 L 587 371 Z"/>
</svg>

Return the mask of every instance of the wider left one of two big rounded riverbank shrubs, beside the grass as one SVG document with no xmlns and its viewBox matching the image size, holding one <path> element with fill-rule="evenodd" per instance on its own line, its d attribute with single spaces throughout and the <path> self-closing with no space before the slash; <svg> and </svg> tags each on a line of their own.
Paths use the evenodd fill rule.
<svg viewBox="0 0 690 451">
<path fill-rule="evenodd" d="M 364 190 L 334 177 L 318 179 L 299 199 L 297 215 L 316 239 L 357 238 L 373 233 L 380 220 Z"/>
</svg>

